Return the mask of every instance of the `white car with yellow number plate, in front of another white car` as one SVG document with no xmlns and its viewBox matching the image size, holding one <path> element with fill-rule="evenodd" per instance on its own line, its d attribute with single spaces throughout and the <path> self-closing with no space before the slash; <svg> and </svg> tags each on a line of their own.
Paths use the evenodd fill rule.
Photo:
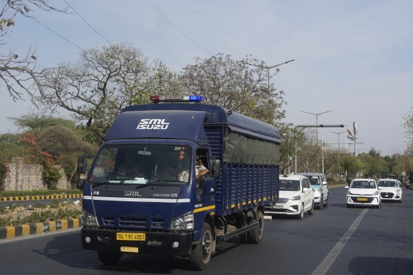
<svg viewBox="0 0 413 275">
<path fill-rule="evenodd" d="M 347 207 L 354 205 L 368 205 L 380 208 L 381 206 L 381 187 L 377 186 L 374 179 L 354 179 L 347 190 Z"/>
</svg>

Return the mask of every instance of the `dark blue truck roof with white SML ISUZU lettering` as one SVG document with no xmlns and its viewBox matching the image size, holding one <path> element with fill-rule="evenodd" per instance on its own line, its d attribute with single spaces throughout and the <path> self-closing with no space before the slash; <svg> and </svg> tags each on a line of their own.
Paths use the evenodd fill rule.
<svg viewBox="0 0 413 275">
<path fill-rule="evenodd" d="M 174 111 L 174 112 L 171 112 Z M 175 112 L 176 111 L 176 112 Z M 143 123 L 159 129 L 139 126 Z M 163 121 L 162 121 L 163 120 Z M 174 138 L 199 142 L 206 139 L 203 125 L 228 125 L 232 132 L 256 139 L 281 143 L 280 133 L 274 125 L 252 119 L 243 114 L 232 112 L 217 105 L 194 103 L 157 103 L 132 105 L 124 108 L 115 119 L 105 140 L 138 138 Z M 139 127 L 141 130 L 139 131 Z"/>
</svg>

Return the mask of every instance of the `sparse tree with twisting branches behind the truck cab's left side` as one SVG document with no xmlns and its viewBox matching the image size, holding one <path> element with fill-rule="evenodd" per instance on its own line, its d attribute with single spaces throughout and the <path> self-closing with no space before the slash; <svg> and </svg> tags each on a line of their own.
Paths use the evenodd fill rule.
<svg viewBox="0 0 413 275">
<path fill-rule="evenodd" d="M 77 63 L 44 70 L 39 101 L 51 110 L 72 112 L 89 131 L 88 141 L 101 143 L 112 121 L 128 105 L 149 103 L 153 92 L 179 88 L 177 75 L 141 50 L 119 44 L 83 50 Z"/>
</svg>

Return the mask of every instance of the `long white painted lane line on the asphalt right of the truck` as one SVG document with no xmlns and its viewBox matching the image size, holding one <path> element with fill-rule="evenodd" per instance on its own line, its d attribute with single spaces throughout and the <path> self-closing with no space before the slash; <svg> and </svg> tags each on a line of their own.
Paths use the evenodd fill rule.
<svg viewBox="0 0 413 275">
<path fill-rule="evenodd" d="M 356 228 L 359 226 L 361 220 L 367 213 L 368 208 L 365 208 L 363 212 L 359 214 L 359 216 L 356 218 L 354 223 L 349 227 L 347 232 L 344 233 L 344 235 L 341 237 L 340 241 L 334 245 L 334 247 L 331 249 L 330 253 L 325 256 L 324 260 L 320 263 L 320 265 L 312 272 L 312 275 L 324 275 L 325 273 L 328 272 L 328 269 L 332 266 L 334 261 L 336 261 L 337 256 L 339 256 L 341 250 L 345 246 L 345 244 L 350 240 L 350 237 L 356 231 Z"/>
</svg>

